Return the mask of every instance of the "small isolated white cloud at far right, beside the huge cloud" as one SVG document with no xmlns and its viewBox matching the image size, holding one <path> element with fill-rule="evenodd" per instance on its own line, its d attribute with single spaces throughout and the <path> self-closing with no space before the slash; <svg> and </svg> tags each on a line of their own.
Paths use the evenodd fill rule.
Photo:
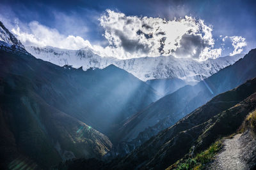
<svg viewBox="0 0 256 170">
<path fill-rule="evenodd" d="M 230 55 L 236 55 L 237 53 L 243 52 L 243 47 L 247 45 L 245 38 L 241 36 L 231 36 L 232 46 L 234 46 L 234 51 Z"/>
</svg>

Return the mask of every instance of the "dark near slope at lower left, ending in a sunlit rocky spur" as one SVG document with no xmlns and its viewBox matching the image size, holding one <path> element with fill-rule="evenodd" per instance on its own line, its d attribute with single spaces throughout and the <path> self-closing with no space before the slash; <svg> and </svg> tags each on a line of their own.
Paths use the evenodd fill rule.
<svg viewBox="0 0 256 170">
<path fill-rule="evenodd" d="M 13 160 L 48 168 L 74 157 L 102 157 L 111 148 L 111 141 L 48 104 L 49 100 L 38 92 L 47 84 L 45 80 L 28 76 L 31 71 L 22 73 L 26 67 L 22 62 L 33 62 L 26 57 L 32 56 L 0 50 L 1 167 L 10 166 Z M 19 74 L 7 69 L 11 60 L 20 64 Z M 77 132 L 79 129 L 81 132 Z"/>
</svg>

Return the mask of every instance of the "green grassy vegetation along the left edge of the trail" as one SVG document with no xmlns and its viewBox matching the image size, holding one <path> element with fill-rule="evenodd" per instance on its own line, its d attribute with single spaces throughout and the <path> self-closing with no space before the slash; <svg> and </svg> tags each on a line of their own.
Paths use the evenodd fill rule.
<svg viewBox="0 0 256 170">
<path fill-rule="evenodd" d="M 218 140 L 204 152 L 198 153 L 196 157 L 186 160 L 178 160 L 175 164 L 168 167 L 167 169 L 203 169 L 205 167 L 205 164 L 210 162 L 213 159 L 214 155 L 216 155 L 216 153 L 220 151 L 221 146 L 221 140 Z"/>
</svg>

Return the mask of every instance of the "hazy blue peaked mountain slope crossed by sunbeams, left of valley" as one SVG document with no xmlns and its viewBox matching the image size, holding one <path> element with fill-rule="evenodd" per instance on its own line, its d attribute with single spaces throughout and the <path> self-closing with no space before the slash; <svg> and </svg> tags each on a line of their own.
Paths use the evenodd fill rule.
<svg viewBox="0 0 256 170">
<path fill-rule="evenodd" d="M 10 61 L 8 70 L 27 74 L 29 78 L 38 77 L 38 83 L 45 82 L 38 92 L 48 104 L 105 134 L 158 98 L 145 82 L 113 65 L 84 72 L 26 59 L 21 63 L 24 66 L 20 61 Z M 8 60 L 3 58 L 5 63 Z"/>
</svg>

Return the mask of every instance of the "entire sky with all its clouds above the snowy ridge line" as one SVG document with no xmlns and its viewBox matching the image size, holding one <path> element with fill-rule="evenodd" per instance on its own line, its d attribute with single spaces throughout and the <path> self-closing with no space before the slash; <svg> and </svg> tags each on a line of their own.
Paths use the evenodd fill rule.
<svg viewBox="0 0 256 170">
<path fill-rule="evenodd" d="M 256 48 L 256 3 L 246 0 L 1 0 L 0 20 L 24 45 L 118 59 L 206 60 Z"/>
</svg>

